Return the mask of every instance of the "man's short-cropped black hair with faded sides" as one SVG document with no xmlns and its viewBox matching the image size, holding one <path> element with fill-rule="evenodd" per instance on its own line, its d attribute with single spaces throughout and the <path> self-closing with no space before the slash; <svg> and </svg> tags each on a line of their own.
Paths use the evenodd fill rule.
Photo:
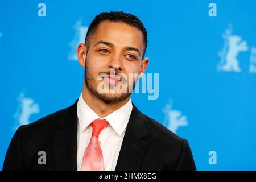
<svg viewBox="0 0 256 182">
<path fill-rule="evenodd" d="M 142 31 L 142 34 L 144 36 L 144 52 L 142 55 L 142 59 L 145 56 L 146 49 L 147 49 L 147 31 L 146 28 L 143 26 L 143 23 L 141 20 L 139 20 L 136 16 L 130 14 L 130 13 L 123 13 L 123 11 L 110 11 L 110 12 L 102 12 L 95 16 L 92 23 L 90 23 L 90 26 L 88 28 L 88 31 L 86 33 L 85 37 L 85 46 L 89 49 L 90 46 L 90 39 L 92 38 L 92 35 L 96 31 L 99 24 L 105 20 L 109 20 L 111 22 L 122 22 L 129 24 L 130 26 L 137 27 L 139 30 Z"/>
</svg>

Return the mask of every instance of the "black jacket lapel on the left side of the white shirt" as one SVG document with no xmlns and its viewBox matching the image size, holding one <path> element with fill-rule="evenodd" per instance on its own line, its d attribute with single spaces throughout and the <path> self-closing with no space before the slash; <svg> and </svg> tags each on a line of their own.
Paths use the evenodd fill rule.
<svg viewBox="0 0 256 182">
<path fill-rule="evenodd" d="M 78 100 L 77 100 L 78 101 Z M 76 170 L 77 155 L 77 101 L 70 106 L 53 134 L 55 170 Z"/>
</svg>

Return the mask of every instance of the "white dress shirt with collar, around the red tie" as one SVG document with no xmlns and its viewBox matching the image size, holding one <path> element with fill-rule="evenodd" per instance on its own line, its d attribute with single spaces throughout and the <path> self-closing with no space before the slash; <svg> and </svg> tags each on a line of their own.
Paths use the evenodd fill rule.
<svg viewBox="0 0 256 182">
<path fill-rule="evenodd" d="M 121 150 L 126 126 L 129 122 L 133 105 L 131 99 L 108 116 L 99 117 L 84 101 L 82 94 L 77 102 L 77 170 L 80 171 L 82 157 L 92 137 L 92 123 L 95 119 L 106 119 L 109 126 L 103 129 L 98 137 L 100 142 L 105 171 L 114 171 Z"/>
</svg>

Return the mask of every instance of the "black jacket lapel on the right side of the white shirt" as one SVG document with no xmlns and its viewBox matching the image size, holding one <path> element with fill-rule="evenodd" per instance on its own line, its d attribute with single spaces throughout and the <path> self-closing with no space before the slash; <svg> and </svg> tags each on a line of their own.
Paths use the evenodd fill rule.
<svg viewBox="0 0 256 182">
<path fill-rule="evenodd" d="M 143 138 L 148 137 L 144 126 L 143 114 L 133 104 L 125 137 L 119 152 L 116 171 L 139 170 L 148 144 Z"/>
</svg>

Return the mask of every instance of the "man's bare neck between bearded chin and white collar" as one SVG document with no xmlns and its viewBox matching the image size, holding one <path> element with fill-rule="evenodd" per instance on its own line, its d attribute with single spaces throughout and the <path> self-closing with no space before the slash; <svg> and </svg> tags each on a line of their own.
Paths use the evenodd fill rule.
<svg viewBox="0 0 256 182">
<path fill-rule="evenodd" d="M 106 103 L 95 96 L 92 92 L 90 92 L 90 90 L 86 88 L 85 84 L 82 89 L 83 100 L 90 107 L 90 109 L 92 109 L 101 118 L 106 117 L 107 115 L 113 113 L 115 110 L 118 110 L 120 107 L 125 105 L 130 100 L 130 97 L 131 96 L 125 98 L 125 100 L 122 101 Z"/>
</svg>

